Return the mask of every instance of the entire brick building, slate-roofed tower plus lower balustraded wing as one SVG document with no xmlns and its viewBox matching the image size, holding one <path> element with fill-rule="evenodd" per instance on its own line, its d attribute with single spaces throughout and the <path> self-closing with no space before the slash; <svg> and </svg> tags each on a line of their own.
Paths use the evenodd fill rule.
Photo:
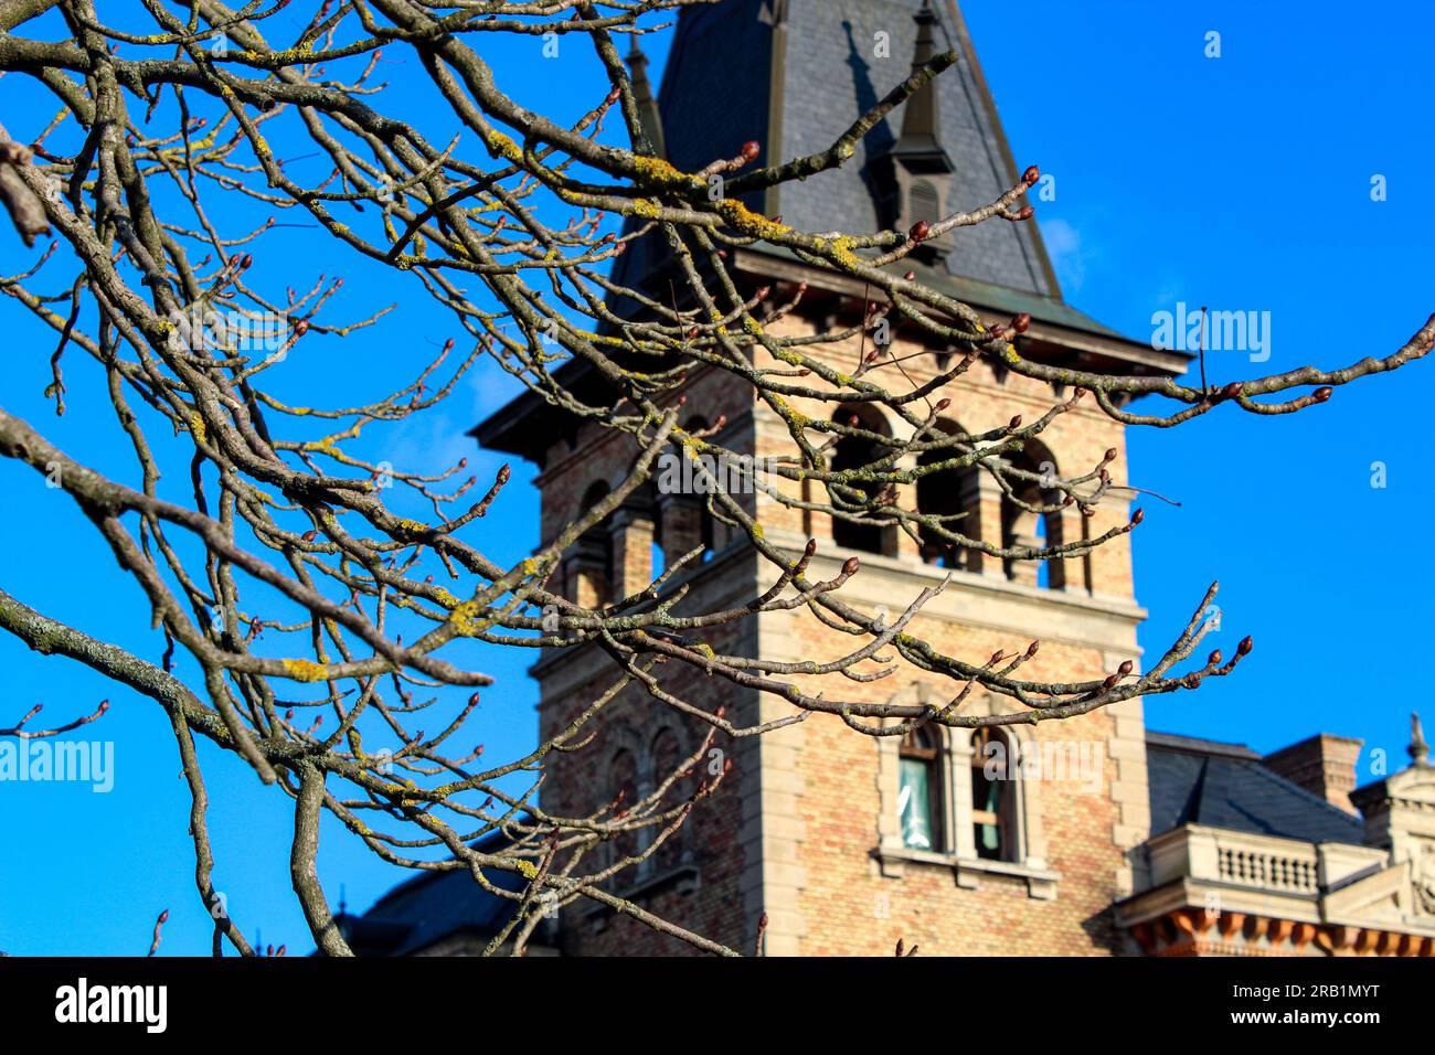
<svg viewBox="0 0 1435 1055">
<path fill-rule="evenodd" d="M 716 9 L 683 9 L 662 90 L 654 99 L 640 82 L 639 98 L 649 139 L 677 168 L 697 171 L 749 141 L 762 148 L 763 164 L 827 148 L 934 49 L 953 49 L 960 60 L 875 128 L 841 171 L 749 202 L 808 231 L 905 227 L 987 204 L 1017 178 L 950 0 L 728 0 Z M 636 73 L 641 66 L 634 60 Z M 753 289 L 771 287 L 776 301 L 806 284 L 799 310 L 781 322 L 785 333 L 839 330 L 861 322 L 868 309 L 860 283 L 773 250 L 733 250 L 729 263 Z M 654 245 L 640 244 L 621 266 L 623 283 L 666 289 L 664 260 Z M 1029 313 L 1032 324 L 1019 340 L 1030 359 L 1122 373 L 1174 376 L 1185 369 L 1187 356 L 1128 340 L 1071 307 L 1035 222 L 963 228 L 946 244 L 927 247 L 917 270 L 984 322 Z M 860 349 L 854 339 L 824 355 L 835 369 L 851 372 Z M 918 385 L 943 373 L 954 355 L 900 330 L 891 350 Z M 564 367 L 560 380 L 578 393 L 600 393 L 600 382 L 581 365 Z M 1071 393 L 983 360 L 940 395 L 951 400 L 943 428 L 976 433 L 1013 415 L 1032 421 Z M 819 400 L 792 405 L 809 418 L 834 413 Z M 687 426 L 723 421 L 716 442 L 729 451 L 759 462 L 791 452 L 782 419 L 723 373 L 695 375 L 686 409 Z M 871 408 L 837 413 L 855 413 L 885 435 L 903 428 Z M 475 435 L 489 449 L 541 466 L 542 540 L 614 488 L 637 456 L 630 438 L 564 419 L 531 396 L 482 422 Z M 1115 458 L 1106 468 L 1124 481 L 1122 426 L 1081 406 L 1060 415 L 1023 458 L 1030 468 L 1076 474 L 1092 471 L 1108 451 Z M 839 446 L 838 464 L 844 458 L 864 452 Z M 947 471 L 903 498 L 908 507 L 966 512 L 966 534 L 1010 545 L 1092 538 L 1124 525 L 1131 508 L 1119 494 L 1105 498 L 1093 517 L 1073 508 L 1039 518 L 986 474 Z M 818 541 L 814 578 L 829 578 L 860 557 L 861 573 L 842 597 L 874 614 L 900 611 L 921 589 L 950 576 L 911 627 L 943 652 L 1023 652 L 1040 640 L 1040 653 L 1026 667 L 1032 677 L 1102 677 L 1125 660 L 1139 669 L 1137 627 L 1145 611 L 1125 535 L 1079 558 L 1006 563 L 898 531 L 834 522 L 761 489 L 740 501 L 763 524 L 765 538 L 794 558 L 809 538 Z M 584 603 L 626 597 L 697 544 L 706 545 L 705 560 L 669 584 L 690 590 L 692 610 L 742 604 L 771 586 L 771 564 L 746 538 L 730 537 L 700 495 L 654 487 L 573 547 L 560 587 Z M 709 643 L 720 652 L 802 662 L 841 655 L 850 639 L 796 610 L 719 629 Z M 611 662 L 594 647 L 561 649 L 532 673 L 547 736 L 606 688 Z M 779 699 L 700 672 L 664 677 L 676 679 L 672 689 L 686 702 L 723 706 L 735 723 L 792 713 Z M 875 703 L 920 702 L 943 690 L 916 667 L 844 685 L 852 698 Z M 964 713 L 1010 706 L 992 695 L 970 700 Z M 613 797 L 651 789 L 700 736 L 690 719 L 646 695 L 620 699 L 587 749 L 548 764 L 544 804 L 587 812 L 596 791 Z M 926 731 L 904 741 L 864 736 L 837 718 L 815 715 L 719 744 L 723 761 L 732 762 L 722 791 L 618 893 L 740 950 L 755 947 L 765 919 L 766 955 L 890 955 L 901 939 L 934 955 L 1429 956 L 1435 769 L 1418 744 L 1409 769 L 1352 791 L 1358 742 L 1323 735 L 1263 759 L 1246 748 L 1152 733 L 1139 699 L 1069 721 L 976 735 Z M 690 787 L 672 794 L 680 801 Z M 389 926 L 385 933 L 409 937 L 370 950 L 471 950 L 478 939 L 465 934 L 481 933 L 476 920 L 484 911 L 464 906 L 478 894 L 458 886 L 448 896 L 415 893 L 415 883 L 453 878 L 422 877 L 396 891 L 403 897 L 380 901 L 364 917 L 373 933 Z M 418 920 L 415 913 L 429 914 Z M 416 942 L 412 929 L 420 924 L 419 933 L 439 937 Z M 687 950 L 608 910 L 581 906 L 564 910 L 550 944 L 568 955 Z"/>
</svg>

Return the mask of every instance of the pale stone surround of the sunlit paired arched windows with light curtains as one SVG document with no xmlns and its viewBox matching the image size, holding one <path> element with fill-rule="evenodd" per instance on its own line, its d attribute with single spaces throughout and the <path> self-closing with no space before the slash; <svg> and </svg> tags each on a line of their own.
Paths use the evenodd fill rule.
<svg viewBox="0 0 1435 1055">
<path fill-rule="evenodd" d="M 890 700 L 893 705 L 941 706 L 930 686 L 916 682 Z M 961 708 L 963 716 L 987 718 L 1019 713 L 1020 708 L 1000 696 L 983 695 Z M 900 725 L 900 719 L 884 719 L 884 725 Z M 1016 779 L 1012 782 L 1015 860 L 993 861 L 977 857 L 971 817 L 971 729 L 934 728 L 938 733 L 940 804 L 943 851 L 913 850 L 901 838 L 901 817 L 897 801 L 901 792 L 901 738 L 877 739 L 877 788 L 880 815 L 877 818 L 877 864 L 883 876 L 900 878 L 908 866 L 951 868 L 959 887 L 979 890 L 983 876 L 1025 878 L 1027 896 L 1052 900 L 1060 873 L 1046 863 L 1046 834 L 1042 822 L 1042 782 Z M 1035 751 L 1036 738 L 1029 725 L 1006 725 L 1002 732 L 1016 742 L 1019 752 Z"/>
</svg>

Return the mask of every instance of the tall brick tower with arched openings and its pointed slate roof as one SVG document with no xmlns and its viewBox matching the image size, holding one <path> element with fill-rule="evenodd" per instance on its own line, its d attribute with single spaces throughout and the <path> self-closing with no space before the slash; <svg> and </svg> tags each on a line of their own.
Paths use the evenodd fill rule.
<svg viewBox="0 0 1435 1055">
<path fill-rule="evenodd" d="M 683 171 L 733 156 L 748 141 L 762 146 L 758 164 L 824 149 L 931 49 L 954 49 L 960 60 L 875 128 L 841 171 L 769 191 L 751 205 L 805 231 L 905 230 L 916 220 L 983 205 L 1016 181 L 1016 165 L 951 0 L 728 0 L 683 9 L 659 100 L 639 85 L 649 139 Z M 917 264 L 924 280 L 984 322 L 1032 316 L 1020 337 L 1029 359 L 1124 373 L 1185 367 L 1185 356 L 1128 340 L 1068 306 L 1035 222 L 961 228 L 924 250 Z M 656 248 L 640 245 L 621 264 L 621 281 L 646 284 L 666 300 L 657 293 L 667 281 Z M 785 332 L 848 327 L 867 310 L 861 283 L 779 251 L 735 250 L 729 264 L 746 289 L 771 286 L 775 300 L 808 284 L 801 309 L 781 323 Z M 954 355 L 901 330 L 893 352 L 916 383 L 940 373 Z M 827 346 L 824 355 L 835 369 L 851 370 L 860 352 L 854 340 Z M 558 378 L 583 398 L 601 396 L 601 382 L 583 363 Z M 1071 393 L 980 362 L 940 395 L 951 400 L 944 426 L 976 433 L 1013 415 L 1033 421 Z M 693 415 L 726 419 L 716 441 L 725 448 L 756 458 L 791 454 L 782 421 L 726 375 L 696 375 L 687 396 Z M 794 400 L 794 408 L 809 418 L 834 411 L 815 400 Z M 870 409 L 860 413 L 874 431 L 893 435 L 900 426 Z M 629 438 L 564 419 L 532 396 L 505 406 L 475 435 L 486 448 L 541 466 L 544 540 L 623 479 L 637 454 Z M 1049 462 L 1056 474 L 1086 472 L 1115 448 L 1108 468 L 1115 481 L 1126 478 L 1122 428 L 1089 405 L 1059 416 L 1042 441 L 1022 455 L 1033 468 Z M 839 464 L 844 456 L 838 449 Z M 964 511 L 966 534 L 1002 545 L 1098 535 L 1129 518 L 1121 494 L 1105 498 L 1092 518 L 1072 510 L 1042 521 L 1003 498 L 987 474 L 949 471 L 911 488 L 903 504 Z M 808 538 L 818 541 L 814 580 L 835 576 L 858 555 L 862 570 L 842 597 L 864 610 L 900 611 L 950 574 L 913 626 L 950 655 L 984 657 L 1039 639 L 1040 653 L 1026 672 L 1053 680 L 1099 677 L 1139 659 L 1137 626 L 1145 613 L 1134 596 L 1125 537 L 1049 567 L 1004 564 L 918 545 L 898 531 L 834 524 L 761 491 L 742 501 L 763 524 L 765 540 L 794 557 Z M 660 561 L 697 543 L 707 545 L 706 560 L 669 587 L 686 584 L 693 610 L 742 604 L 772 584 L 772 566 L 745 537 L 729 537 L 700 495 L 653 488 L 570 550 L 561 589 L 585 603 L 629 596 L 649 584 Z M 707 640 L 720 652 L 792 662 L 835 657 L 851 643 L 804 610 L 766 613 Z M 725 705 L 739 725 L 794 713 L 781 699 L 676 666 L 659 667 L 674 695 L 706 709 Z M 608 688 L 614 667 L 600 650 L 583 647 L 547 653 L 532 673 L 541 686 L 541 731 L 550 735 Z M 842 692 L 871 702 L 951 695 L 916 667 L 845 682 Z M 976 698 L 963 713 L 1007 706 L 1004 698 Z M 743 952 L 752 949 L 762 913 L 769 955 L 890 953 L 898 937 L 931 953 L 1116 950 L 1112 904 L 1139 886 L 1134 873 L 1141 858 L 1131 851 L 1151 828 L 1141 700 L 1066 722 L 1006 726 L 993 736 L 1006 759 L 994 775 L 983 765 L 993 749 L 966 731 L 898 742 L 818 715 L 759 738 L 719 741 L 715 746 L 733 764 L 722 791 L 695 811 L 680 838 L 627 874 L 620 893 Z M 587 749 L 552 762 L 545 805 L 588 811 L 596 791 L 650 788 L 699 742 L 699 728 L 679 711 L 646 695 L 623 698 L 606 711 Z M 690 787 L 672 794 L 680 800 Z M 561 930 L 564 949 L 581 955 L 683 947 L 597 909 L 565 910 Z"/>
</svg>

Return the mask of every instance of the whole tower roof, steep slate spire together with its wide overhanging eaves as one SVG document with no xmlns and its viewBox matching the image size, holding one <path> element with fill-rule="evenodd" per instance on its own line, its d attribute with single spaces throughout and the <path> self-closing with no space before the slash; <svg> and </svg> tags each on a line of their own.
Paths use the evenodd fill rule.
<svg viewBox="0 0 1435 1055">
<path fill-rule="evenodd" d="M 667 159 L 697 171 L 718 158 L 736 156 L 753 141 L 761 152 L 752 171 L 825 149 L 911 72 L 917 40 L 913 14 L 920 6 L 921 0 L 723 0 L 683 7 L 659 92 Z M 938 141 L 956 169 L 944 177 L 951 181 L 947 208 L 986 205 L 1016 181 L 1016 165 L 959 6 L 934 0 L 933 9 L 937 47 L 960 55 L 927 89 L 938 93 Z M 888 57 L 875 55 L 878 33 L 888 34 Z M 805 231 L 881 230 L 884 188 L 880 165 L 871 162 L 897 144 L 901 122 L 898 108 L 868 132 L 841 168 L 745 195 L 745 202 Z M 636 225 L 629 221 L 626 230 Z M 960 228 L 951 238 L 951 251 L 936 266 L 907 260 L 900 267 L 911 267 L 923 283 L 976 309 L 999 316 L 1025 311 L 1038 323 L 1060 327 L 1066 337 L 1059 343 L 1089 334 L 1102 355 L 1116 355 L 1124 372 L 1184 372 L 1190 356 L 1152 352 L 1062 300 L 1035 222 L 993 220 Z M 791 251 L 766 244 L 742 255 L 788 266 L 796 260 Z M 613 278 L 620 286 L 647 286 L 650 296 L 666 301 L 666 258 L 660 235 L 640 238 L 617 258 Z M 620 317 L 640 310 L 623 297 L 611 301 Z M 1075 346 L 1082 344 L 1076 340 Z M 1026 352 L 1043 357 L 1039 347 Z M 1076 365 L 1101 370 L 1104 362 L 1088 356 Z M 565 388 L 580 383 L 583 367 L 565 365 L 557 372 L 558 382 Z M 541 398 L 524 392 L 471 435 L 488 449 L 537 459 L 547 445 L 547 426 L 522 421 L 544 416 L 551 422 L 554 415 Z"/>
</svg>

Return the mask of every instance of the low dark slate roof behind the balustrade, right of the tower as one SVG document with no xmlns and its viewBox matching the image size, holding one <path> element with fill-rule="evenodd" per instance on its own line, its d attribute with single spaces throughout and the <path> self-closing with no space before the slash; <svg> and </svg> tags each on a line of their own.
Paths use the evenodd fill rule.
<svg viewBox="0 0 1435 1055">
<path fill-rule="evenodd" d="M 1363 843 L 1359 817 L 1276 775 L 1244 745 L 1148 732 L 1147 779 L 1152 835 L 1204 824 L 1306 843 Z"/>
</svg>

